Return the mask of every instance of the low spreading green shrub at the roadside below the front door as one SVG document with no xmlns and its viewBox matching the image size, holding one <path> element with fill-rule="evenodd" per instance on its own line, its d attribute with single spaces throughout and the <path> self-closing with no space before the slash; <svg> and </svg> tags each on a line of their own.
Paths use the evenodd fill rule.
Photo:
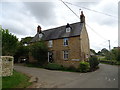
<svg viewBox="0 0 120 90">
<path fill-rule="evenodd" d="M 49 70 L 62 70 L 63 66 L 58 65 L 56 63 L 48 63 L 44 68 L 49 69 Z"/>
</svg>

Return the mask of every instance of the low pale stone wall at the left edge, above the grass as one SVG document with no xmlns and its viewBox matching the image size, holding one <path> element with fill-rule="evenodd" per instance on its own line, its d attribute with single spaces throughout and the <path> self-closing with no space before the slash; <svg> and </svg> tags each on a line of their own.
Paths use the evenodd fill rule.
<svg viewBox="0 0 120 90">
<path fill-rule="evenodd" d="M 2 67 L 0 76 L 11 76 L 13 74 L 13 61 L 12 56 L 0 56 L 0 66 Z"/>
</svg>

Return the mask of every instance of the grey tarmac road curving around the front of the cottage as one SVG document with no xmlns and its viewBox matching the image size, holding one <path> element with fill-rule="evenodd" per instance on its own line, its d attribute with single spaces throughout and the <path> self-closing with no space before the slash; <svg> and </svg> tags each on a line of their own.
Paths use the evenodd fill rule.
<svg viewBox="0 0 120 90">
<path fill-rule="evenodd" d="M 118 88 L 118 66 L 100 64 L 89 73 L 75 73 L 15 65 L 14 69 L 37 80 L 31 88 Z"/>
</svg>

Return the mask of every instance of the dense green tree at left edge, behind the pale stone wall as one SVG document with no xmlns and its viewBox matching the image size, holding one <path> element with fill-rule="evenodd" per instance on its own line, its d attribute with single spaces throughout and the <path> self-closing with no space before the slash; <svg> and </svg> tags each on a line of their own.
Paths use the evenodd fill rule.
<svg viewBox="0 0 120 90">
<path fill-rule="evenodd" d="M 18 39 L 16 36 L 9 33 L 8 29 L 0 29 L 2 32 L 2 55 L 14 55 Z"/>
</svg>

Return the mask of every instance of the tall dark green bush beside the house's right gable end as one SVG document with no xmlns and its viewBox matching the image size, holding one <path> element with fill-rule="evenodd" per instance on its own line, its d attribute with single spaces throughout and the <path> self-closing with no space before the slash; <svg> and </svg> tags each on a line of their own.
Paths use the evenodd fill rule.
<svg viewBox="0 0 120 90">
<path fill-rule="evenodd" d="M 99 60 L 97 56 L 91 56 L 89 58 L 90 70 L 93 71 L 98 68 Z"/>
</svg>

